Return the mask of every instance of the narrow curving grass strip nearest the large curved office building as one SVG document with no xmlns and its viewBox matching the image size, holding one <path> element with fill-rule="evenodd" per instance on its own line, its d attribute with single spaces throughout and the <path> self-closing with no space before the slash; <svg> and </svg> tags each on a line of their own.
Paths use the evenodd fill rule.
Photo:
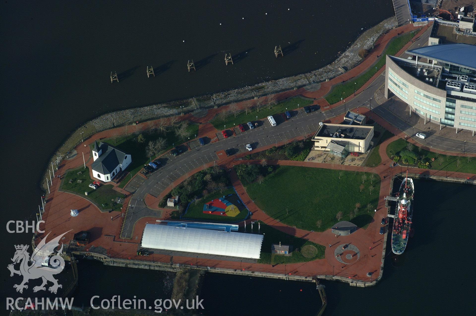
<svg viewBox="0 0 476 316">
<path fill-rule="evenodd" d="M 354 93 L 354 89 L 358 90 L 362 87 L 372 76 L 385 65 L 386 55 L 394 56 L 398 51 L 400 51 L 408 41 L 410 41 L 415 36 L 415 32 L 410 32 L 402 36 L 394 38 L 390 44 L 388 44 L 387 49 L 382 53 L 380 59 L 377 61 L 375 66 L 371 67 L 368 71 L 363 73 L 361 76 L 356 79 L 349 80 L 343 84 L 339 84 L 332 88 L 332 91 L 329 92 L 325 98 L 329 104 L 334 104 L 340 102 L 340 98 L 347 98 Z M 376 69 L 377 67 L 377 69 Z"/>
</svg>

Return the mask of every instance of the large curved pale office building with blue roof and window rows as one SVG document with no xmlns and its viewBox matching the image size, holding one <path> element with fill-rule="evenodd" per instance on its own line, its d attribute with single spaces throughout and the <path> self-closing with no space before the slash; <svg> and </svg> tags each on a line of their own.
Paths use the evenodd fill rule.
<svg viewBox="0 0 476 316">
<path fill-rule="evenodd" d="M 385 97 L 394 93 L 427 121 L 476 131 L 476 45 L 440 44 L 387 55 Z"/>
</svg>

